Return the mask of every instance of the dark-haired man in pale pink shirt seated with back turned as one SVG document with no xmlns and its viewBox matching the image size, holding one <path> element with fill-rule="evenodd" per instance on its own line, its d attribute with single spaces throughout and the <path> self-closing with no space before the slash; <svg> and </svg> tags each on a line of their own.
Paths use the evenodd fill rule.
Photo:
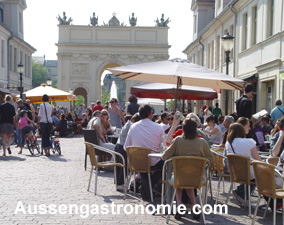
<svg viewBox="0 0 284 225">
<path fill-rule="evenodd" d="M 161 151 L 161 143 L 163 140 L 164 130 L 161 125 L 152 121 L 153 112 L 152 107 L 145 105 L 140 107 L 139 114 L 141 119 L 139 122 L 133 124 L 128 132 L 124 149 L 128 146 L 138 146 L 152 149 L 152 152 Z M 161 170 L 163 161 L 159 158 L 151 158 L 151 169 Z M 151 176 L 152 186 L 161 179 L 161 171 L 155 172 Z M 149 183 L 147 174 L 141 173 L 142 186 L 140 187 L 141 196 L 144 199 L 149 199 Z"/>
</svg>

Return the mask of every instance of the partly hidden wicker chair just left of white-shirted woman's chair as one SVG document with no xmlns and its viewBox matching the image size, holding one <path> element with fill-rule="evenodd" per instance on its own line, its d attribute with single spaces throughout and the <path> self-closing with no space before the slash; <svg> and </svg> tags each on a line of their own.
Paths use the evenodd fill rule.
<svg viewBox="0 0 284 225">
<path fill-rule="evenodd" d="M 224 173 L 224 166 L 223 166 L 223 158 L 226 158 L 225 156 L 220 155 L 219 153 L 215 151 L 211 151 L 214 155 L 215 162 L 213 164 L 213 171 L 217 172 L 218 176 L 218 187 L 217 187 L 217 195 L 216 195 L 216 202 L 215 204 L 218 203 L 218 197 L 219 197 L 219 190 L 220 190 L 220 183 L 221 179 L 223 179 L 223 192 L 225 193 L 225 185 L 224 185 L 224 178 L 230 177 L 229 174 Z"/>
</svg>

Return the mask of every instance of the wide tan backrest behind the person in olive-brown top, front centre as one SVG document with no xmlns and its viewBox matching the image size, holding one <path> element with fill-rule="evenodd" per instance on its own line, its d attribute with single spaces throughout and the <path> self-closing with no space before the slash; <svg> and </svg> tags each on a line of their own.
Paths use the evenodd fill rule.
<svg viewBox="0 0 284 225">
<path fill-rule="evenodd" d="M 207 159 L 197 156 L 177 156 L 172 158 L 174 187 L 200 189 L 202 187 Z"/>
</svg>

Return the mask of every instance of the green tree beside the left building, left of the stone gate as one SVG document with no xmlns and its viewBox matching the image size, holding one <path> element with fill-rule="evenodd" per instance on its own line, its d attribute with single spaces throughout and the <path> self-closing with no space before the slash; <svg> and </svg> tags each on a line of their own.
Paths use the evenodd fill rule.
<svg viewBox="0 0 284 225">
<path fill-rule="evenodd" d="M 41 63 L 36 63 L 35 61 L 32 61 L 33 87 L 38 87 L 42 83 L 46 83 L 48 75 L 49 73 L 45 66 L 43 66 Z"/>
</svg>

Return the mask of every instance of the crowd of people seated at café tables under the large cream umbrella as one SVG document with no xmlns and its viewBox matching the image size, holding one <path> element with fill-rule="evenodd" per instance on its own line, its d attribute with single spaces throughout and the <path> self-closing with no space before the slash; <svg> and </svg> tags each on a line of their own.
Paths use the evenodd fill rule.
<svg viewBox="0 0 284 225">
<path fill-rule="evenodd" d="M 276 107 L 279 106 L 276 102 Z M 281 102 L 281 101 L 280 101 Z M 112 103 L 111 103 L 112 104 Z M 281 103 L 282 104 L 282 103 Z M 280 104 L 280 105 L 281 105 Z M 115 110 L 121 110 L 118 106 Z M 95 129 L 100 139 L 100 144 L 108 149 L 121 153 L 127 162 L 125 149 L 129 146 L 149 148 L 153 153 L 161 152 L 164 138 L 168 148 L 163 153 L 162 159 L 151 158 L 151 170 L 157 172 L 151 174 L 151 184 L 154 193 L 161 192 L 161 169 L 164 160 L 174 156 L 199 156 L 213 162 L 213 154 L 210 148 L 225 148 L 225 154 L 238 154 L 247 156 L 253 160 L 261 160 L 259 151 L 270 151 L 273 156 L 280 157 L 279 164 L 284 162 L 284 113 L 278 118 L 266 115 L 256 120 L 249 119 L 237 114 L 222 116 L 218 104 L 212 110 L 208 106 L 202 108 L 201 115 L 194 113 L 184 114 L 167 111 L 160 115 L 154 114 L 149 105 L 133 110 L 133 115 L 124 113 L 122 118 L 119 113 L 115 123 L 122 127 L 116 145 L 107 143 L 105 135 L 108 130 L 105 122 L 109 118 L 107 110 L 96 110 L 92 114 L 92 119 L 87 125 L 88 129 Z M 272 113 L 273 115 L 273 113 Z M 283 117 L 282 117 L 283 116 Z M 118 120 L 120 120 L 118 122 Z M 274 124 L 275 121 L 275 124 Z M 122 126 L 120 126 L 120 124 Z M 111 123 L 110 123 L 110 126 Z M 271 142 L 267 142 L 267 138 Z M 254 180 L 251 168 L 251 179 Z M 121 169 L 117 169 L 117 181 L 119 187 L 123 187 L 123 174 Z M 143 200 L 150 199 L 149 181 L 147 174 L 140 173 L 135 181 Z M 254 191 L 252 185 L 251 191 Z M 187 191 L 188 198 L 192 205 L 196 203 L 193 191 Z M 233 196 L 237 203 L 244 204 L 244 185 L 239 185 L 233 190 Z M 177 190 L 177 204 L 182 202 L 182 190 Z M 180 219 L 181 215 L 176 214 L 175 218 Z M 194 215 L 194 218 L 199 218 Z"/>
</svg>

